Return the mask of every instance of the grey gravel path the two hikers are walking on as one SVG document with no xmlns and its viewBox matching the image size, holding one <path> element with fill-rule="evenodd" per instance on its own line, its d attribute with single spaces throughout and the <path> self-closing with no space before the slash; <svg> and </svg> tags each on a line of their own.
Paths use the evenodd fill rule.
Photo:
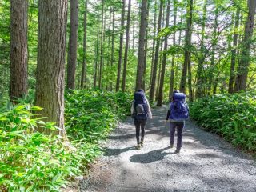
<svg viewBox="0 0 256 192">
<path fill-rule="evenodd" d="M 168 149 L 165 108 L 153 110 L 145 146 L 135 150 L 131 118 L 106 142 L 106 153 L 80 183 L 80 191 L 256 191 L 256 162 L 214 134 L 186 122 L 180 154 Z"/>
</svg>

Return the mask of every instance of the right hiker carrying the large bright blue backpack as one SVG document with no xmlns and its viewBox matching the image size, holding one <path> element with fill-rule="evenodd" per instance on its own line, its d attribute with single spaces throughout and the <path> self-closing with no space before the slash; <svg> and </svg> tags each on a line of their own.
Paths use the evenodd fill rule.
<svg viewBox="0 0 256 192">
<path fill-rule="evenodd" d="M 174 134 L 177 128 L 177 148 L 175 153 L 179 153 L 182 148 L 182 130 L 185 127 L 185 120 L 189 118 L 189 107 L 186 104 L 186 95 L 174 90 L 166 122 L 170 122 L 170 148 L 174 147 Z"/>
</svg>

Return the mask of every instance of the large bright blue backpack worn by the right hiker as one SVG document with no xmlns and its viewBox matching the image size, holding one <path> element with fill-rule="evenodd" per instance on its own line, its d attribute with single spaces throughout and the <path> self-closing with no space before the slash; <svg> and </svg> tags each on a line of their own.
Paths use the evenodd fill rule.
<svg viewBox="0 0 256 192">
<path fill-rule="evenodd" d="M 173 102 L 170 102 L 169 119 L 182 121 L 189 118 L 189 108 L 186 105 L 186 95 L 182 93 L 173 94 Z"/>
</svg>

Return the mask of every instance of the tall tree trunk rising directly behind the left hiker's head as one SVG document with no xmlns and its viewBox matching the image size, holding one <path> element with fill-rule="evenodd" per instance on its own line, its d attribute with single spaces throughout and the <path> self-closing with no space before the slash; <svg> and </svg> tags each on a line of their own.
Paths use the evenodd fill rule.
<svg viewBox="0 0 256 192">
<path fill-rule="evenodd" d="M 143 74 L 144 74 L 144 57 L 145 57 L 145 34 L 146 34 L 146 5 L 147 0 L 142 0 L 141 6 L 141 22 L 139 29 L 139 42 L 138 42 L 138 66 L 136 77 L 136 90 L 142 88 Z"/>
</svg>

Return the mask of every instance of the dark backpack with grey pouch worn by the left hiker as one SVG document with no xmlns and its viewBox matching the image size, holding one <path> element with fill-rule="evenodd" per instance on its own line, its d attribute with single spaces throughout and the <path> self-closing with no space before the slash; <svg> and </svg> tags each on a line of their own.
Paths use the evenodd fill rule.
<svg viewBox="0 0 256 192">
<path fill-rule="evenodd" d="M 133 118 L 146 120 L 148 118 L 148 105 L 145 94 L 138 91 L 134 94 L 134 114 Z"/>
</svg>

